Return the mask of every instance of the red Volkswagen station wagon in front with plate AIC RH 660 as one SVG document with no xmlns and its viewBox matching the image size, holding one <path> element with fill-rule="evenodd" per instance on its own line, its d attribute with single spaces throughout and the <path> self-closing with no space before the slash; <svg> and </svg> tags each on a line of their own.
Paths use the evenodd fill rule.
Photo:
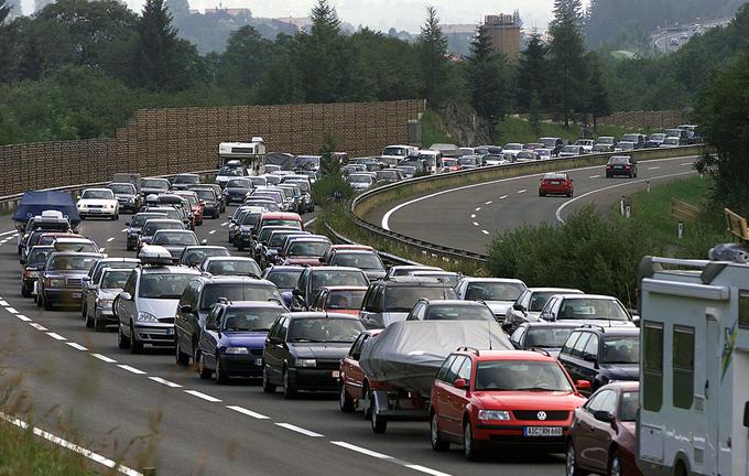
<svg viewBox="0 0 749 476">
<path fill-rule="evenodd" d="M 447 357 L 432 385 L 432 448 L 462 444 L 468 461 L 490 443 L 561 452 L 573 413 L 584 403 L 549 353 L 460 349 Z"/>
</svg>

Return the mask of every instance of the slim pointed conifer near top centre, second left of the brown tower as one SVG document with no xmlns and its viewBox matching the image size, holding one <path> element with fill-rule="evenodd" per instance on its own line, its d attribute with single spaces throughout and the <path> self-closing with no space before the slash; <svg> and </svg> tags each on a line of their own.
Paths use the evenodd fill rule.
<svg viewBox="0 0 749 476">
<path fill-rule="evenodd" d="M 443 99 L 446 76 L 447 39 L 442 33 L 437 10 L 434 7 L 426 9 L 426 21 L 421 28 L 416 47 L 421 66 L 422 96 L 434 106 L 438 106 Z"/>
</svg>

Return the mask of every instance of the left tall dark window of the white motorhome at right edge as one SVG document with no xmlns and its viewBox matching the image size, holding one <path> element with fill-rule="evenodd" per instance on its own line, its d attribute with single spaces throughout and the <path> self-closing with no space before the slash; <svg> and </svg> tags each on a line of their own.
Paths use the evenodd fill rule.
<svg viewBox="0 0 749 476">
<path fill-rule="evenodd" d="M 642 408 L 661 411 L 663 405 L 663 324 L 645 322 L 642 363 Z"/>
</svg>

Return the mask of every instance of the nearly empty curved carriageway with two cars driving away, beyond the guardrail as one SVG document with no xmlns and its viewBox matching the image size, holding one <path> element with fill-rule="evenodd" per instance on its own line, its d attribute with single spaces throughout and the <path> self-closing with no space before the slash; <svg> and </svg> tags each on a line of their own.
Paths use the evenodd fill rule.
<svg viewBox="0 0 749 476">
<path fill-rule="evenodd" d="M 406 198 L 373 210 L 367 220 L 382 228 L 432 244 L 487 253 L 499 231 L 524 224 L 560 221 L 594 204 L 610 213 L 622 195 L 695 174 L 696 158 L 663 159 L 639 163 L 638 177 L 606 178 L 604 166 L 569 172 L 575 196 L 539 196 L 543 174 L 506 178 Z"/>
</svg>

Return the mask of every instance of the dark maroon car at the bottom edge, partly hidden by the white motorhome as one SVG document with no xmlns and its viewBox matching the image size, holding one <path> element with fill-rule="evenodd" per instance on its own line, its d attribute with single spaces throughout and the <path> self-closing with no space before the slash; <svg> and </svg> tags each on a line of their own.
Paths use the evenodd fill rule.
<svg viewBox="0 0 749 476">
<path fill-rule="evenodd" d="M 575 410 L 567 437 L 567 476 L 589 472 L 642 476 L 634 457 L 639 392 L 637 381 L 609 383 Z"/>
</svg>

